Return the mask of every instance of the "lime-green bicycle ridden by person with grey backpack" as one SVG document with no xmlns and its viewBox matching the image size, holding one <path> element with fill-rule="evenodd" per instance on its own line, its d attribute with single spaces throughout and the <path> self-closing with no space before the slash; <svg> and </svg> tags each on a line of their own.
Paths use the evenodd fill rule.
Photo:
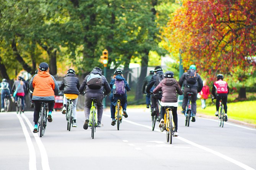
<svg viewBox="0 0 256 170">
<path fill-rule="evenodd" d="M 91 137 L 94 139 L 94 133 L 96 132 L 98 115 L 96 114 L 96 98 L 91 98 L 91 109 L 89 115 L 88 126 L 91 128 Z"/>
</svg>

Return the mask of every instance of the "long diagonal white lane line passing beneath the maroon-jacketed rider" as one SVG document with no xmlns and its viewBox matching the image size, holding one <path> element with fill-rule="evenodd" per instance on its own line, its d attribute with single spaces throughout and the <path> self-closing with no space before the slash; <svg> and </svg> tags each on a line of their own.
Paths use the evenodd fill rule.
<svg viewBox="0 0 256 170">
<path fill-rule="evenodd" d="M 109 115 L 107 115 L 107 114 L 103 114 L 103 115 L 109 117 Z M 123 119 L 122 121 L 131 123 L 131 124 L 134 124 L 134 125 L 137 125 L 137 126 L 142 126 L 142 127 L 148 128 L 148 129 L 152 129 L 151 126 L 142 125 L 142 124 L 139 124 L 139 123 L 132 122 L 132 121 L 130 121 L 130 120 L 125 120 L 125 119 Z M 159 129 L 155 129 L 155 131 L 161 132 Z M 165 133 L 165 132 L 161 132 L 161 133 Z M 239 162 L 239 161 L 237 161 L 237 160 L 235 160 L 235 159 L 232 159 L 231 157 L 228 157 L 228 156 L 225 156 L 225 155 L 221 154 L 220 152 L 217 152 L 217 151 L 214 151 L 214 150 L 212 150 L 212 149 L 206 148 L 206 147 L 204 147 L 204 146 L 202 146 L 202 145 L 199 145 L 199 144 L 196 144 L 196 143 L 194 143 L 194 142 L 192 142 L 192 141 L 186 140 L 185 138 L 182 138 L 182 137 L 180 137 L 180 136 L 178 136 L 178 137 L 176 137 L 176 138 L 179 139 L 179 140 L 181 140 L 181 141 L 184 141 L 184 142 L 186 142 L 186 143 L 188 143 L 188 144 L 191 144 L 191 145 L 193 145 L 193 146 L 196 146 L 197 148 L 201 148 L 201 149 L 203 149 L 203 150 L 205 150 L 205 151 L 207 151 L 207 152 L 210 152 L 210 153 L 212 153 L 212 154 L 215 154 L 216 156 L 219 156 L 219 157 L 221 157 L 221 158 L 223 158 L 223 159 L 226 159 L 226 160 L 232 162 L 233 164 L 238 165 L 238 166 L 241 167 L 241 168 L 244 168 L 244 169 L 246 169 L 246 170 L 255 170 L 255 169 L 249 167 L 248 165 L 245 165 L 245 164 L 243 164 L 243 163 L 241 163 L 241 162 Z"/>
</svg>

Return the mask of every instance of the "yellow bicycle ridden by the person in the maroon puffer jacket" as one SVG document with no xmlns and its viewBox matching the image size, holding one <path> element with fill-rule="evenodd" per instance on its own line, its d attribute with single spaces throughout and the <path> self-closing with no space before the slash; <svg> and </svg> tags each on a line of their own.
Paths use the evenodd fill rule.
<svg viewBox="0 0 256 170">
<path fill-rule="evenodd" d="M 173 106 L 165 106 L 165 123 L 163 125 L 161 124 L 163 129 L 166 130 L 166 141 L 169 142 L 170 144 L 173 141 L 175 131 L 172 109 L 174 109 Z"/>
</svg>

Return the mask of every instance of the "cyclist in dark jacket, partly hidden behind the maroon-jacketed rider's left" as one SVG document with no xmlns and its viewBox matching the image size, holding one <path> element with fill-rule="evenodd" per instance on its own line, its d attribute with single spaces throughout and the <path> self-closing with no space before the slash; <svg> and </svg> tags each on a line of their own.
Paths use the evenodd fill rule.
<svg viewBox="0 0 256 170">
<path fill-rule="evenodd" d="M 151 80 L 148 83 L 148 86 L 146 88 L 147 93 L 150 93 L 152 90 L 151 88 L 155 88 L 157 87 L 157 85 L 159 84 L 159 79 L 163 79 L 163 69 L 160 66 L 155 67 L 154 70 L 155 74 L 152 76 Z M 159 77 L 159 79 L 157 80 L 157 77 Z M 151 95 L 151 108 L 153 109 L 153 112 L 151 113 L 151 116 L 155 116 L 155 114 L 157 113 L 157 100 L 161 100 L 162 95 L 159 94 L 152 94 Z"/>
</svg>

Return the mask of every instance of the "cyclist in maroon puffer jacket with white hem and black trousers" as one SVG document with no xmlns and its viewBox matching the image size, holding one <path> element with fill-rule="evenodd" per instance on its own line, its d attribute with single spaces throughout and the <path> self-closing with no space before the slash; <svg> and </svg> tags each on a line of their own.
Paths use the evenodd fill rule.
<svg viewBox="0 0 256 170">
<path fill-rule="evenodd" d="M 183 95 L 183 91 L 181 90 L 181 87 L 179 86 L 179 83 L 177 80 L 173 78 L 174 74 L 172 71 L 166 71 L 165 79 L 163 79 L 157 87 L 153 90 L 153 93 L 157 93 L 158 91 L 162 91 L 162 99 L 161 99 L 161 112 L 160 112 L 160 123 L 159 127 L 161 128 L 164 121 L 164 115 L 165 115 L 165 106 L 173 106 L 174 109 L 173 112 L 173 122 L 175 127 L 174 136 L 179 136 L 178 133 L 178 115 L 177 115 L 177 107 L 178 107 L 178 98 L 177 93 L 179 95 Z"/>
</svg>

